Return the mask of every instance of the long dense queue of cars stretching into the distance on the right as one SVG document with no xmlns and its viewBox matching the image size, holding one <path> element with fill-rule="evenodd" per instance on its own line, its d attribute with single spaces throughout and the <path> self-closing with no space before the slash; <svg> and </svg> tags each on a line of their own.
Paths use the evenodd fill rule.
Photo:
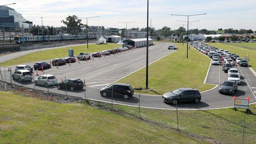
<svg viewBox="0 0 256 144">
<path fill-rule="evenodd" d="M 222 70 L 228 75 L 227 80 L 221 84 L 219 93 L 234 94 L 241 83 L 239 71 L 234 66 L 248 66 L 247 61 L 228 50 L 219 49 L 203 42 L 191 42 L 190 44 L 198 51 L 208 55 L 212 59 L 212 65 L 220 65 L 222 61 Z"/>
</svg>

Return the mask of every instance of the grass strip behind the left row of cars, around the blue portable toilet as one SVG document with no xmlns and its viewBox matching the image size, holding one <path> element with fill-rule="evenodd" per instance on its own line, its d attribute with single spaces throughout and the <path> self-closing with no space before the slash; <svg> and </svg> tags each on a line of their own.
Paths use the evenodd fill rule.
<svg viewBox="0 0 256 144">
<path fill-rule="evenodd" d="M 58 57 L 66 57 L 69 55 L 68 50 L 74 49 L 74 55 L 77 55 L 80 52 L 97 52 L 102 50 L 108 50 L 111 48 L 115 48 L 120 46 L 119 44 L 110 43 L 110 44 L 89 44 L 89 49 L 87 49 L 86 45 L 82 46 L 70 46 L 67 48 L 56 48 L 52 50 L 44 50 L 41 52 L 33 52 L 31 54 L 23 55 L 21 57 L 17 57 L 15 59 L 11 59 L 9 61 L 0 63 L 0 66 L 10 66 L 10 65 L 18 65 L 21 63 L 30 63 L 34 61 L 43 61 L 46 59 L 54 59 Z M 49 61 L 50 63 L 50 61 Z"/>
</svg>

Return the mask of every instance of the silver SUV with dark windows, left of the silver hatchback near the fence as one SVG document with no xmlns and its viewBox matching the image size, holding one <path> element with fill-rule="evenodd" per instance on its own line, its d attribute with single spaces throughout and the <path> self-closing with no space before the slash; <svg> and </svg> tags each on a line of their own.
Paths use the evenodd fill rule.
<svg viewBox="0 0 256 144">
<path fill-rule="evenodd" d="M 29 70 L 17 70 L 12 75 L 13 79 L 18 79 L 19 83 L 21 81 L 31 81 L 32 80 L 32 74 Z"/>
</svg>

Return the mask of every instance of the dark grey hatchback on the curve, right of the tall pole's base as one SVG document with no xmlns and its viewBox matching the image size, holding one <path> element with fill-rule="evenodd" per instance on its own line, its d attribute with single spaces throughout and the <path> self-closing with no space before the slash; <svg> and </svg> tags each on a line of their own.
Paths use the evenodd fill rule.
<svg viewBox="0 0 256 144">
<path fill-rule="evenodd" d="M 163 94 L 162 99 L 164 102 L 176 105 L 177 102 L 195 102 L 201 100 L 201 94 L 197 89 L 193 88 L 179 88 L 172 92 Z"/>
</svg>

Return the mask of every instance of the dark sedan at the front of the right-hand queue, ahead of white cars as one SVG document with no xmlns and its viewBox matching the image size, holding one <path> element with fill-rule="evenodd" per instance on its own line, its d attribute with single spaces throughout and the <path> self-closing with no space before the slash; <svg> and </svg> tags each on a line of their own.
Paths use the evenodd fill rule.
<svg viewBox="0 0 256 144">
<path fill-rule="evenodd" d="M 236 81 L 227 80 L 219 88 L 219 93 L 234 94 L 238 89 L 238 83 Z"/>
</svg>

